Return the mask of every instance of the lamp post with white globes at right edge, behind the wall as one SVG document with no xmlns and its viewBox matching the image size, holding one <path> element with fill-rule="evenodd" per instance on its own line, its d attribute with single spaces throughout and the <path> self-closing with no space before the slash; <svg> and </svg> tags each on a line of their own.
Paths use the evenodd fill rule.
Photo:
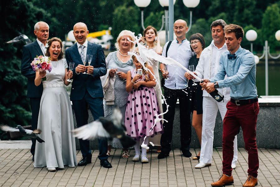
<svg viewBox="0 0 280 187">
<path fill-rule="evenodd" d="M 248 41 L 251 41 L 251 52 L 253 53 L 253 41 L 257 39 L 257 32 L 254 30 L 249 30 L 246 32 L 246 39 Z M 280 41 L 280 30 L 278 30 L 275 33 L 275 38 L 276 40 Z M 269 46 L 268 46 L 268 41 L 266 40 L 264 42 L 264 53 L 260 57 L 257 55 L 255 56 L 255 61 L 259 61 L 259 59 L 265 58 L 265 95 L 268 95 L 268 56 L 272 59 L 278 59 L 280 57 L 280 54 L 278 56 L 272 56 L 269 52 Z"/>
</svg>

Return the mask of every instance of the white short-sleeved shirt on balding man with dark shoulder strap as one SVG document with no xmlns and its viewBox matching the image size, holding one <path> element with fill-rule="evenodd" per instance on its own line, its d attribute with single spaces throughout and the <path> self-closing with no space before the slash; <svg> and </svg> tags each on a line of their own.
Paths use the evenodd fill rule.
<svg viewBox="0 0 280 187">
<path fill-rule="evenodd" d="M 166 47 L 168 42 L 165 44 L 162 56 L 166 56 Z M 193 56 L 193 52 L 190 49 L 189 41 L 187 39 L 183 40 L 182 43 L 178 43 L 175 39 L 171 42 L 171 45 L 167 51 L 167 57 L 170 57 L 181 65 L 189 69 L 189 59 Z M 184 89 L 187 88 L 187 80 L 184 77 L 186 70 L 179 66 L 167 65 L 167 71 L 169 72 L 168 78 L 165 81 L 164 86 L 169 89 Z"/>
</svg>

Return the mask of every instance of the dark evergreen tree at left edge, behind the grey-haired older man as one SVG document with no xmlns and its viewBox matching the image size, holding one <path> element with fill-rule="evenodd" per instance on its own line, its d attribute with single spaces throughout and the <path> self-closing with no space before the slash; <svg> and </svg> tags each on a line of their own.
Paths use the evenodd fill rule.
<svg viewBox="0 0 280 187">
<path fill-rule="evenodd" d="M 33 36 L 31 33 L 34 24 L 44 19 L 46 14 L 43 9 L 34 7 L 32 2 L 21 0 L 2 2 L 1 12 L 5 15 L 0 31 L 1 123 L 11 126 L 30 125 L 29 99 L 26 98 L 27 79 L 21 75 L 21 49 L 25 43 L 5 42 L 19 36 L 19 32 Z"/>
</svg>

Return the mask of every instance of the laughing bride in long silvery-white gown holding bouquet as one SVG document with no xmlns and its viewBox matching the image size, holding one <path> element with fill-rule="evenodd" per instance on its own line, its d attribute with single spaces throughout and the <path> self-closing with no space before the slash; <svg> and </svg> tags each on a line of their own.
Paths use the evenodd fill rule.
<svg viewBox="0 0 280 187">
<path fill-rule="evenodd" d="M 75 138 L 71 135 L 74 129 L 72 106 L 64 85 L 69 85 L 72 71 L 62 54 L 62 41 L 52 38 L 48 41 L 46 56 L 52 61 L 51 72 L 36 72 L 35 85 L 43 81 L 43 94 L 40 103 L 38 128 L 42 130 L 40 138 L 45 143 L 36 143 L 34 167 L 47 166 L 49 171 L 64 168 L 64 165 L 77 165 Z"/>
</svg>

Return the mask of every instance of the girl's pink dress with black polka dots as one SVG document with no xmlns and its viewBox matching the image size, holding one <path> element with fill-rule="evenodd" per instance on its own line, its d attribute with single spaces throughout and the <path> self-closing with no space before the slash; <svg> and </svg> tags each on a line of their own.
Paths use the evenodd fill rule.
<svg viewBox="0 0 280 187">
<path fill-rule="evenodd" d="M 131 77 L 136 75 L 135 68 L 130 70 Z M 143 79 L 144 79 L 143 75 Z M 156 93 L 153 87 L 141 85 L 138 90 L 132 90 L 128 94 L 127 107 L 125 111 L 124 125 L 130 137 L 138 140 L 141 137 L 163 133 L 161 122 L 157 122 L 155 127 L 154 120 L 156 114 L 159 114 L 159 105 L 156 99 Z M 151 132 L 149 132 L 152 129 Z"/>
</svg>

